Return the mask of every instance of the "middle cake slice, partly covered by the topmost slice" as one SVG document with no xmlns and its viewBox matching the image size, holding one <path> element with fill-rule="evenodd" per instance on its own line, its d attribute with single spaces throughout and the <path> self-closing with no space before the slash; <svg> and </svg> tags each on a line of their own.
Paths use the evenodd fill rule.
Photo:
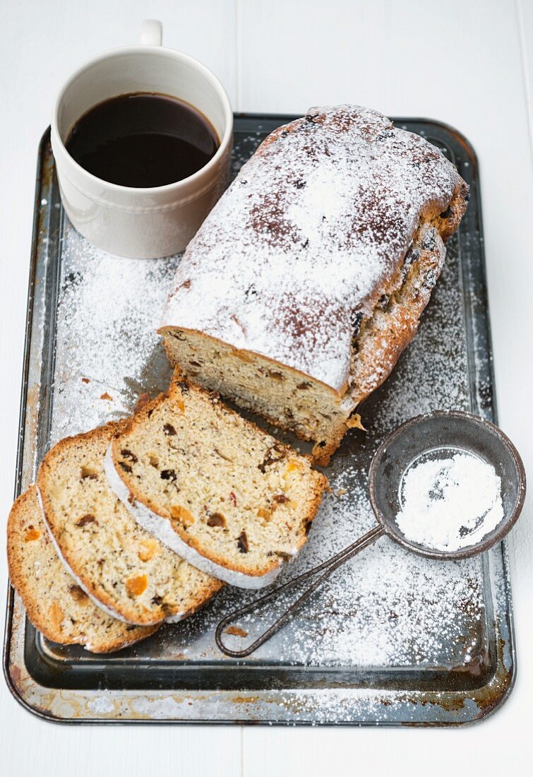
<svg viewBox="0 0 533 777">
<path fill-rule="evenodd" d="M 103 471 L 124 422 L 57 443 L 37 487 L 57 552 L 82 589 L 110 615 L 152 625 L 190 615 L 221 588 L 149 535 L 117 500 Z"/>
</svg>

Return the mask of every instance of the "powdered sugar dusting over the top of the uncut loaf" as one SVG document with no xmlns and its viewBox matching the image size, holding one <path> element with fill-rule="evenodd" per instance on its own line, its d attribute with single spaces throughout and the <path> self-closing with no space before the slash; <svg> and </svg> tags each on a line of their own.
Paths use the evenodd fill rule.
<svg viewBox="0 0 533 777">
<path fill-rule="evenodd" d="M 273 135 L 190 243 L 162 326 L 198 329 L 338 390 L 354 315 L 371 312 L 423 208 L 444 210 L 458 173 L 423 138 L 357 106 L 312 109 Z"/>
</svg>

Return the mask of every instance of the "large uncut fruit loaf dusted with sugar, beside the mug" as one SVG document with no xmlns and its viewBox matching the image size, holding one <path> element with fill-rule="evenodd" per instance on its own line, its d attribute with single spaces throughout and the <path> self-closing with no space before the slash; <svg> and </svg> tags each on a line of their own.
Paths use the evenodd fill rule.
<svg viewBox="0 0 533 777">
<path fill-rule="evenodd" d="M 326 464 L 416 333 L 467 198 L 437 148 L 381 113 L 309 110 L 190 242 L 159 329 L 169 360 Z"/>
</svg>

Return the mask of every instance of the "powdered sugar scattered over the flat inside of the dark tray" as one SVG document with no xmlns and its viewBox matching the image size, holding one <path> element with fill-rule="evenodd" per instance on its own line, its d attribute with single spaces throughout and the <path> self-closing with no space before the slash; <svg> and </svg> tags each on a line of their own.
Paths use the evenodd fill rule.
<svg viewBox="0 0 533 777">
<path fill-rule="evenodd" d="M 249 150 L 239 148 L 241 162 Z M 179 256 L 149 262 L 110 256 L 90 246 L 68 222 L 61 250 L 52 441 L 123 416 L 141 392 L 155 395 L 166 388 L 170 370 L 155 329 L 179 263 Z M 374 524 L 366 473 L 392 429 L 432 409 L 469 409 L 468 349 L 458 315 L 464 304 L 460 274 L 452 239 L 419 333 L 393 375 L 361 409 L 368 434 L 353 430 L 333 457 L 328 468 L 332 493 L 315 518 L 308 545 L 287 566 L 283 580 L 333 556 Z M 105 395 L 111 399 L 102 399 Z M 165 626 L 136 646 L 134 654 L 200 664 L 221 660 L 214 627 L 251 598 L 256 594 L 228 587 L 192 618 Z M 276 611 L 273 605 L 259 622 L 239 624 L 249 637 L 232 636 L 233 644 L 242 647 L 254 629 L 272 622 Z M 337 570 L 246 663 L 332 667 L 350 677 L 375 667 L 451 668 L 478 660 L 486 639 L 479 558 L 439 563 L 381 538 Z"/>
</svg>

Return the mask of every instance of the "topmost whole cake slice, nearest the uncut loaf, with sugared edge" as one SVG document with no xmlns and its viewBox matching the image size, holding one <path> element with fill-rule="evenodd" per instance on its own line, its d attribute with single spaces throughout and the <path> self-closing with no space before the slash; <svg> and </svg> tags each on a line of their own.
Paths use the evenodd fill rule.
<svg viewBox="0 0 533 777">
<path fill-rule="evenodd" d="M 106 474 L 141 526 L 243 588 L 270 584 L 304 545 L 327 484 L 310 458 L 177 374 L 113 437 Z"/>
</svg>

